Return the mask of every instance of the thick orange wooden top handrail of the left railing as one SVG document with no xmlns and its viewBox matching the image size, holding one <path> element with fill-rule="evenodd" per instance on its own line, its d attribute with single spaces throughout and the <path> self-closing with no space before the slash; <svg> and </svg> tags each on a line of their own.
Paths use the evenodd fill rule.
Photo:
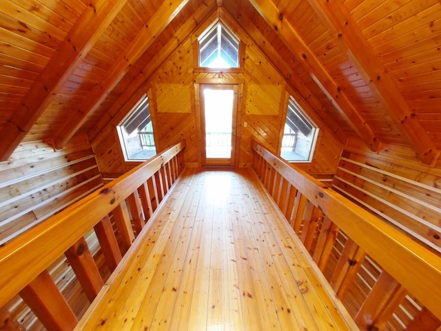
<svg viewBox="0 0 441 331">
<path fill-rule="evenodd" d="M 89 194 L 0 247 L 0 307 L 46 270 L 85 233 L 94 228 L 96 223 L 107 217 L 127 197 L 137 192 L 147 179 L 176 158 L 183 148 L 185 141 L 141 163 L 118 179 L 104 185 L 101 190 Z M 164 181 L 167 181 L 166 176 L 172 179 L 181 172 L 183 166 L 177 163 L 175 166 L 180 169 L 175 170 L 174 174 L 165 175 L 164 172 Z M 162 194 L 159 195 L 162 197 Z"/>
</svg>

